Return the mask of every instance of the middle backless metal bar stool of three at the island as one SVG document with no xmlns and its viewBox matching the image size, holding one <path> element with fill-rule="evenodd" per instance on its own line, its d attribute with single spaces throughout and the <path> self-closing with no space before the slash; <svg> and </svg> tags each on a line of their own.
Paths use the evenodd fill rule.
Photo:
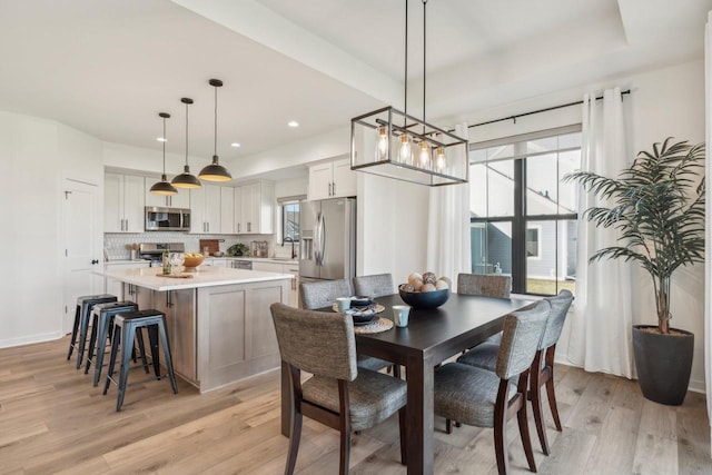
<svg viewBox="0 0 712 475">
<path fill-rule="evenodd" d="M 92 320 L 91 320 L 91 336 L 89 337 L 89 354 L 87 355 L 87 366 L 85 367 L 85 374 L 89 373 L 91 364 L 95 364 L 93 370 L 93 385 L 99 385 L 101 378 L 101 368 L 103 366 L 103 354 L 107 347 L 107 338 L 111 338 L 113 329 L 113 316 L 118 314 L 126 314 L 138 310 L 138 305 L 131 300 L 109 301 L 106 304 L 97 304 L 93 306 Z M 146 363 L 146 353 L 144 348 L 140 348 L 141 357 L 146 372 L 148 373 L 148 365 Z M 95 360 L 96 352 L 96 360 Z M 136 359 L 135 359 L 136 360 Z"/>
</svg>

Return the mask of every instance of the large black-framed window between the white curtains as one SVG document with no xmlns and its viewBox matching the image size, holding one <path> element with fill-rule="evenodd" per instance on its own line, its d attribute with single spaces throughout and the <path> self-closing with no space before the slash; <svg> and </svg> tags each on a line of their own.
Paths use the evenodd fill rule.
<svg viewBox="0 0 712 475">
<path fill-rule="evenodd" d="M 472 271 L 512 275 L 517 294 L 575 289 L 581 127 L 471 148 Z"/>
</svg>

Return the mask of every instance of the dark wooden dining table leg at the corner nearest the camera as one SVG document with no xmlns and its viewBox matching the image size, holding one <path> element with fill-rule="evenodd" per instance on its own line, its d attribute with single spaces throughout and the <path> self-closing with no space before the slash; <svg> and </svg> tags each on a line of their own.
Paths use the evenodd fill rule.
<svg viewBox="0 0 712 475">
<path fill-rule="evenodd" d="M 408 417 L 406 424 L 408 475 L 433 473 L 433 367 L 423 359 L 406 365 Z"/>
</svg>

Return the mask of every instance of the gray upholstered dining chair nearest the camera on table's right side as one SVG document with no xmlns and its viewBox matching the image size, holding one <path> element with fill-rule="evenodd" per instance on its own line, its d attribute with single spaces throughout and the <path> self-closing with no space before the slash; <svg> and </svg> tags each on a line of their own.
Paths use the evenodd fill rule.
<svg viewBox="0 0 712 475">
<path fill-rule="evenodd" d="M 435 369 L 435 414 L 447 419 L 447 433 L 452 429 L 451 420 L 493 427 L 500 474 L 508 473 L 506 426 L 515 415 L 530 469 L 536 472 L 526 419 L 526 392 L 550 308 L 542 300 L 532 309 L 504 318 L 494 373 L 463 363 L 448 363 Z"/>
</svg>

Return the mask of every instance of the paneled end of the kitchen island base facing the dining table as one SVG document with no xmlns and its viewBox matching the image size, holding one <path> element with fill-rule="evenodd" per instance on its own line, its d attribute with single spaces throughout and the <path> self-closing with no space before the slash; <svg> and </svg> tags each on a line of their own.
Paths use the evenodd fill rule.
<svg viewBox="0 0 712 475">
<path fill-rule="evenodd" d="M 200 392 L 279 367 L 269 306 L 289 301 L 289 281 L 197 289 Z"/>
</svg>

